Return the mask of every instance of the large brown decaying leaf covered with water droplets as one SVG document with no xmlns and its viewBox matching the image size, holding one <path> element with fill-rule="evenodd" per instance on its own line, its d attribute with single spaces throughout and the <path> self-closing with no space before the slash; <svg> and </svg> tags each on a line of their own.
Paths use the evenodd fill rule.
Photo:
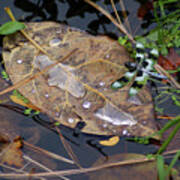
<svg viewBox="0 0 180 180">
<path fill-rule="evenodd" d="M 18 90 L 44 113 L 85 133 L 145 136 L 156 131 L 152 97 L 147 87 L 128 98 L 128 87 L 114 91 L 112 82 L 126 71 L 129 56 L 116 41 L 54 22 L 26 23 L 26 33 L 49 56 L 22 34 L 4 38 L 6 71 L 15 84 L 78 50 L 42 76 Z"/>
</svg>

